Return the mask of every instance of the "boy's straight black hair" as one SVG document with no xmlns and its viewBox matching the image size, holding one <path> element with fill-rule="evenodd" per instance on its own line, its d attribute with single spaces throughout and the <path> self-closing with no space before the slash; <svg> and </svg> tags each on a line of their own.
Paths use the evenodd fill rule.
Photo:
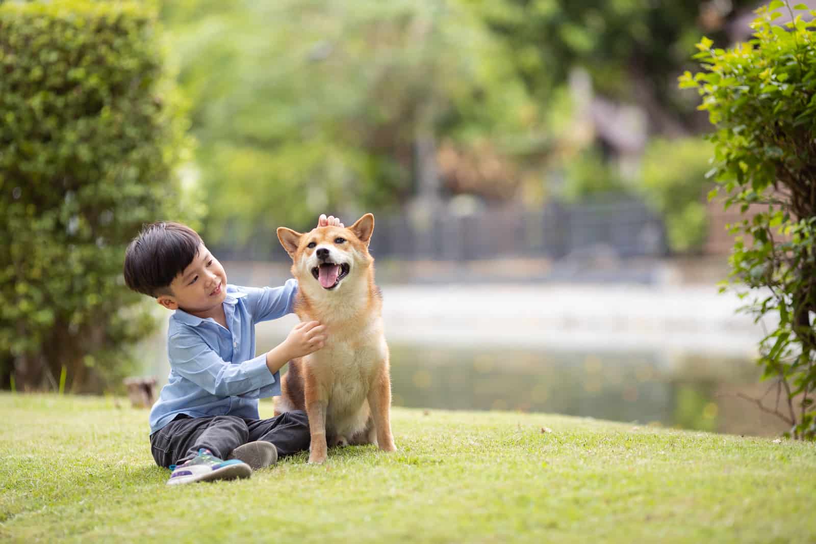
<svg viewBox="0 0 816 544">
<path fill-rule="evenodd" d="M 170 283 L 193 262 L 201 244 L 201 236 L 181 223 L 144 226 L 125 251 L 127 287 L 153 297 L 172 294 Z"/>
</svg>

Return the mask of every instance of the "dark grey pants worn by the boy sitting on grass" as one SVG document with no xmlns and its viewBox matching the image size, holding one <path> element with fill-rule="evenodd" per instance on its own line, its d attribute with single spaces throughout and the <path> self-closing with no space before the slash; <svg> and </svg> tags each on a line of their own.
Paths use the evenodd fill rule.
<svg viewBox="0 0 816 544">
<path fill-rule="evenodd" d="M 200 448 L 226 459 L 239 445 L 256 440 L 272 442 L 281 457 L 308 450 L 306 412 L 295 410 L 270 419 L 234 415 L 191 418 L 180 414 L 150 435 L 150 450 L 159 467 L 169 467 L 192 459 Z"/>
</svg>

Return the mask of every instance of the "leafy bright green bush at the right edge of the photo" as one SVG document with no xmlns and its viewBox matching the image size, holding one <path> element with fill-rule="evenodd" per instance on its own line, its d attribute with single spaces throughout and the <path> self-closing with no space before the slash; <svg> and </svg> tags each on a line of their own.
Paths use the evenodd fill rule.
<svg viewBox="0 0 816 544">
<path fill-rule="evenodd" d="M 712 173 L 726 206 L 760 209 L 734 226 L 741 236 L 730 257 L 734 283 L 752 289 L 743 292 L 747 311 L 773 324 L 760 364 L 774 379 L 776 405 L 753 400 L 789 423 L 793 437 L 814 439 L 816 22 L 794 10 L 816 15 L 776 0 L 757 10 L 750 42 L 722 50 L 703 38 L 695 58 L 704 71 L 686 72 L 681 86 L 698 88 L 716 125 Z M 774 24 L 783 13 L 791 21 Z"/>
</svg>

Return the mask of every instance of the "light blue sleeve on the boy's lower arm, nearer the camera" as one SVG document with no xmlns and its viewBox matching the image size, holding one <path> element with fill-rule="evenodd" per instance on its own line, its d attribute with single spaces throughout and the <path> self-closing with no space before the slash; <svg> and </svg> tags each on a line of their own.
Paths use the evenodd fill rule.
<svg viewBox="0 0 816 544">
<path fill-rule="evenodd" d="M 216 397 L 260 398 L 280 394 L 280 374 L 269 371 L 266 353 L 239 365 L 224 362 L 193 332 L 171 336 L 167 351 L 174 371 Z"/>
</svg>

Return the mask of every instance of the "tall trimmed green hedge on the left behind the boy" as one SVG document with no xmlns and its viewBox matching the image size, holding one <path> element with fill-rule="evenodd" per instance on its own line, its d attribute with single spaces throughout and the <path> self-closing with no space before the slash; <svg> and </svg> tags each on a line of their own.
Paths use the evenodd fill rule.
<svg viewBox="0 0 816 544">
<path fill-rule="evenodd" d="M 0 3 L 0 385 L 116 385 L 153 330 L 124 248 L 191 208 L 160 42 L 137 2 Z"/>
</svg>

